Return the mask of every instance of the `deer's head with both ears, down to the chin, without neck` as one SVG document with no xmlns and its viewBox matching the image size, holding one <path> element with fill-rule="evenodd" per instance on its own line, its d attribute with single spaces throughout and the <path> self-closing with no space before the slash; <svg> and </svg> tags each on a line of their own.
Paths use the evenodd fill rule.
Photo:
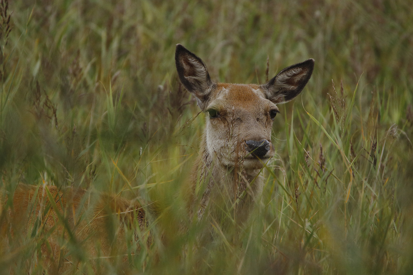
<svg viewBox="0 0 413 275">
<path fill-rule="evenodd" d="M 204 62 L 176 46 L 180 81 L 207 113 L 206 149 L 223 167 L 261 169 L 274 155 L 271 129 L 277 104 L 294 99 L 311 77 L 314 60 L 282 70 L 264 85 L 215 83 Z"/>
</svg>

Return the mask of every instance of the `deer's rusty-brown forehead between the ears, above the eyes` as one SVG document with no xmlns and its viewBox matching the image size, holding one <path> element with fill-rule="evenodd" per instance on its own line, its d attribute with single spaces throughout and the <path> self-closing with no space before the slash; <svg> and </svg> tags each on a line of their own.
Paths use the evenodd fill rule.
<svg viewBox="0 0 413 275">
<path fill-rule="evenodd" d="M 247 110 L 249 113 L 259 113 L 270 108 L 277 109 L 274 103 L 264 98 L 264 92 L 256 84 L 218 83 L 211 91 L 211 101 L 207 109 L 215 108 L 232 113 L 237 110 Z"/>
</svg>

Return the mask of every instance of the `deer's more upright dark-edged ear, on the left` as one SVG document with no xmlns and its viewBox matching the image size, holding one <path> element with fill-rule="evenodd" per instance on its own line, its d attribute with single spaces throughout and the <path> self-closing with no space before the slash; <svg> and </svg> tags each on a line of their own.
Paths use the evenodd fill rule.
<svg viewBox="0 0 413 275">
<path fill-rule="evenodd" d="M 198 56 L 180 44 L 176 45 L 175 64 L 179 80 L 191 94 L 197 97 L 198 106 L 203 110 L 204 102 L 207 101 L 213 85 L 207 66 Z"/>
</svg>

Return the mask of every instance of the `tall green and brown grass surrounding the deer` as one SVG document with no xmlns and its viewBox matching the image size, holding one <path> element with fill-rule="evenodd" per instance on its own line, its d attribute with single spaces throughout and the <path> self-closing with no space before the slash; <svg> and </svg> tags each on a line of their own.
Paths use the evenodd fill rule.
<svg viewBox="0 0 413 275">
<path fill-rule="evenodd" d="M 192 250 L 206 225 L 172 228 L 167 247 L 132 245 L 126 265 L 102 259 L 101 274 L 412 273 L 411 1 L 15 0 L 9 23 L 4 10 L 3 195 L 18 182 L 130 184 L 123 197 L 168 207 L 159 224 L 185 219 L 177 194 L 204 125 L 178 83 L 176 43 L 221 82 L 265 82 L 267 57 L 270 78 L 316 60 L 302 95 L 280 106 L 277 155 L 238 239 Z M 0 272 L 42 274 L 40 242 L 0 251 Z M 91 272 L 78 262 L 74 273 Z"/>
</svg>

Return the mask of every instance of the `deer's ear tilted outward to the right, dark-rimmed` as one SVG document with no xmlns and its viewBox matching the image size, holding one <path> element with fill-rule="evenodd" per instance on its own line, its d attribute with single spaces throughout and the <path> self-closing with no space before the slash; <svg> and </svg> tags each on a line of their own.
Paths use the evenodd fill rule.
<svg viewBox="0 0 413 275">
<path fill-rule="evenodd" d="M 261 85 L 261 89 L 266 93 L 267 99 L 273 103 L 285 103 L 304 89 L 311 78 L 314 69 L 314 59 L 292 65 L 280 71 L 266 84 Z"/>
</svg>

